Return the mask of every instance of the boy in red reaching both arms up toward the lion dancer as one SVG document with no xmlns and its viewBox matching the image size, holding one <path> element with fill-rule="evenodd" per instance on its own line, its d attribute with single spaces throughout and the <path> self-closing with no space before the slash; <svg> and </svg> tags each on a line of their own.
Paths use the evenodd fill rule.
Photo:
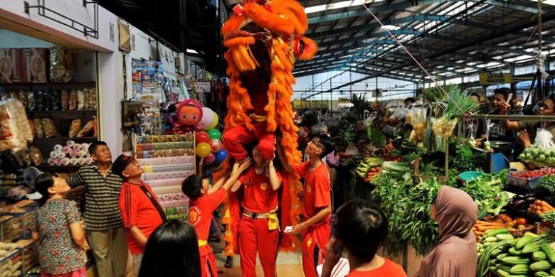
<svg viewBox="0 0 555 277">
<path fill-rule="evenodd" d="M 212 188 L 208 188 L 210 186 L 208 179 L 201 178 L 198 174 L 187 177 L 181 183 L 181 191 L 189 197 L 189 223 L 195 227 L 196 237 L 199 239 L 202 277 L 218 276 L 216 258 L 212 253 L 212 248 L 208 245 L 212 212 L 218 208 L 223 198 L 226 197 L 226 191 L 231 188 L 231 185 L 249 166 L 250 158 L 246 158 L 242 163 L 235 163 L 231 171 L 231 177 L 227 180 L 221 178 Z M 226 181 L 225 184 L 224 181 Z"/>
</svg>

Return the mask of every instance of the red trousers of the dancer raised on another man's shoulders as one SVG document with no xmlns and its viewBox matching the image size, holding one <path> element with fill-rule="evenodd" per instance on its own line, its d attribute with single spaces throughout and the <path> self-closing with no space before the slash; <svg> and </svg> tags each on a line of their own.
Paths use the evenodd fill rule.
<svg viewBox="0 0 555 277">
<path fill-rule="evenodd" d="M 248 153 L 245 145 L 258 141 L 258 148 L 265 160 L 273 157 L 275 152 L 275 134 L 266 131 L 266 122 L 255 122 L 255 131 L 248 131 L 245 125 L 238 125 L 223 133 L 226 150 L 236 161 L 243 161 Z"/>
</svg>

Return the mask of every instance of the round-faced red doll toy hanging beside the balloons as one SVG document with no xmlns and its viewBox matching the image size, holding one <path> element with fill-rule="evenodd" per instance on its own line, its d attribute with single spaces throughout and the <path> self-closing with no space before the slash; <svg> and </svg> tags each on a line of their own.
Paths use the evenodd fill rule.
<svg viewBox="0 0 555 277">
<path fill-rule="evenodd" d="M 201 131 L 197 125 L 202 119 L 202 105 L 193 99 L 176 104 L 176 114 L 169 114 L 168 122 L 173 126 L 172 133 L 185 134 L 191 131 Z"/>
</svg>

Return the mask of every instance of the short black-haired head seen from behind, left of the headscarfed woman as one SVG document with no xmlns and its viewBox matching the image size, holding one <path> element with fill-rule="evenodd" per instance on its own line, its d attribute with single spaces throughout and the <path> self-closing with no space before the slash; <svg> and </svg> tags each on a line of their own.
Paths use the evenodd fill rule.
<svg viewBox="0 0 555 277">
<path fill-rule="evenodd" d="M 386 240 L 388 222 L 371 202 L 351 200 L 337 210 L 334 231 L 349 255 L 368 262 Z"/>
</svg>

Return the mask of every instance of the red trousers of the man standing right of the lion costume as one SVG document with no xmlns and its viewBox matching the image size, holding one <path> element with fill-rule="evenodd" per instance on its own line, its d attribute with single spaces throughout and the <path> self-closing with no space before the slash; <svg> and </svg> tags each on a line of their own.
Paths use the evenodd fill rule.
<svg viewBox="0 0 555 277">
<path fill-rule="evenodd" d="M 305 277 L 318 277 L 316 266 L 324 262 L 330 231 L 329 222 L 324 222 L 302 232 L 302 271 Z"/>
</svg>

